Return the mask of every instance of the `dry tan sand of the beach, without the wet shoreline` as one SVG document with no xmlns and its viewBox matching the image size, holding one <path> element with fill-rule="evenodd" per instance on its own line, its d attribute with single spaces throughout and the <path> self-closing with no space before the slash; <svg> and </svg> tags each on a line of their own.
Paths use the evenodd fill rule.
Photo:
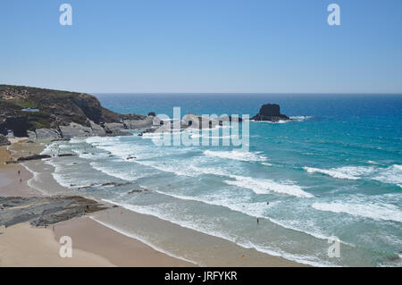
<svg viewBox="0 0 402 285">
<path fill-rule="evenodd" d="M 0 196 L 31 197 L 43 193 L 31 189 L 27 181 L 32 173 L 20 164 L 4 164 L 29 151 L 15 139 L 10 151 L 0 147 Z M 20 143 L 21 142 L 21 143 Z M 33 144 L 32 144 L 33 145 Z M 42 147 L 43 148 L 43 147 Z M 18 172 L 21 172 L 18 175 Z M 22 182 L 20 182 L 20 179 Z M 28 222 L 0 229 L 0 266 L 193 266 L 164 255 L 146 244 L 130 239 L 88 217 L 55 224 L 52 229 L 34 228 Z M 71 236 L 73 256 L 59 256 L 62 236 Z"/>
</svg>

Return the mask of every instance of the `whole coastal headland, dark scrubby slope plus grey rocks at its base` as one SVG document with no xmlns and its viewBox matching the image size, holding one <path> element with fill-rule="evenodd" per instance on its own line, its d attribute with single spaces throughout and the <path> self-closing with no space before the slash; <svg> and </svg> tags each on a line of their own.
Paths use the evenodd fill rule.
<svg viewBox="0 0 402 285">
<path fill-rule="evenodd" d="M 114 113 L 89 94 L 0 85 L 0 134 L 7 138 L 121 136 L 152 122 L 153 116 Z"/>
</svg>

